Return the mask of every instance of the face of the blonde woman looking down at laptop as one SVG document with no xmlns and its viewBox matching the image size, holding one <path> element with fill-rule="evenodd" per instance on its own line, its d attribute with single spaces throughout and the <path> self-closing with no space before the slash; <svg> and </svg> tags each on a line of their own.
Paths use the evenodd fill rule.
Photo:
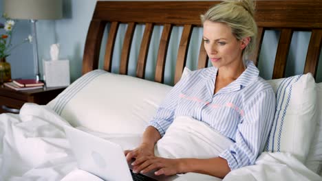
<svg viewBox="0 0 322 181">
<path fill-rule="evenodd" d="M 214 67 L 229 69 L 243 64 L 241 53 L 246 45 L 235 38 L 228 25 L 205 21 L 203 38 L 204 48 Z"/>
</svg>

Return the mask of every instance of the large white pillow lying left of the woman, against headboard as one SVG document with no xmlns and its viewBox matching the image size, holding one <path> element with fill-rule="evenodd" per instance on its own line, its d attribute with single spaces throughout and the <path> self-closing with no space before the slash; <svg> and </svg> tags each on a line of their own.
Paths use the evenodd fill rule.
<svg viewBox="0 0 322 181">
<path fill-rule="evenodd" d="M 68 86 L 48 106 L 74 127 L 111 134 L 142 134 L 171 86 L 103 70 Z"/>
</svg>

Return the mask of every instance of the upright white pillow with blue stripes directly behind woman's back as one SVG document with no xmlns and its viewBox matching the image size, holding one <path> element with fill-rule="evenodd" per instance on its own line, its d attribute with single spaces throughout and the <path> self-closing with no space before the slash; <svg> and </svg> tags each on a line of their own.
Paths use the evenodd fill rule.
<svg viewBox="0 0 322 181">
<path fill-rule="evenodd" d="M 290 152 L 305 162 L 316 126 L 316 84 L 312 74 L 268 80 L 277 109 L 266 151 Z"/>
</svg>

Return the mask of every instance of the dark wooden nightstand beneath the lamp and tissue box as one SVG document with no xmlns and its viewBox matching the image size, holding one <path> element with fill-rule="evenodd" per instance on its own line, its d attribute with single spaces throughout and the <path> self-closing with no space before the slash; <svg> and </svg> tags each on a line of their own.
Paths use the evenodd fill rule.
<svg viewBox="0 0 322 181">
<path fill-rule="evenodd" d="M 36 104 L 47 104 L 61 93 L 66 87 L 38 88 L 33 90 L 13 90 L 0 86 L 0 113 L 19 113 L 19 110 L 26 102 Z"/>
</svg>

